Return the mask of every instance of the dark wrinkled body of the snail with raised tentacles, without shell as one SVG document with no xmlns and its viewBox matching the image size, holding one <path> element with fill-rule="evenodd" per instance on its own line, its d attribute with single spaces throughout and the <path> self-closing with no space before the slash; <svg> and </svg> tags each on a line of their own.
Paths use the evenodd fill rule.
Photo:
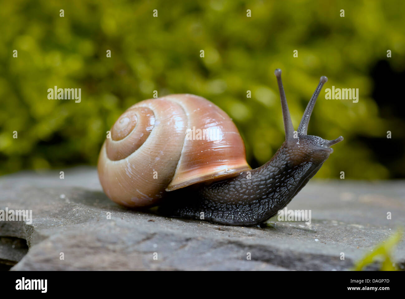
<svg viewBox="0 0 405 299">
<path fill-rule="evenodd" d="M 309 100 L 294 138 L 281 70 L 275 70 L 279 86 L 286 140 L 273 158 L 261 167 L 235 177 L 197 184 L 168 192 L 158 212 L 166 216 L 203 219 L 226 225 L 254 226 L 265 222 L 285 207 L 322 167 L 333 152 L 332 145 L 343 140 L 326 140 L 307 135 L 309 118 L 322 86 L 320 78 Z"/>
</svg>

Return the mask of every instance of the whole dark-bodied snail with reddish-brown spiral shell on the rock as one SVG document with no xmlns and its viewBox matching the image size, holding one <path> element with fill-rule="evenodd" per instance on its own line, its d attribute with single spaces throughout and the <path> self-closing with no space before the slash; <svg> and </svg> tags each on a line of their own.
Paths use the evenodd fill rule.
<svg viewBox="0 0 405 299">
<path fill-rule="evenodd" d="M 275 76 L 286 139 L 269 162 L 249 167 L 243 140 L 219 107 L 200 96 L 172 94 L 136 103 L 112 126 L 98 158 L 104 192 L 126 207 L 158 205 L 166 216 L 227 225 L 254 226 L 277 214 L 343 137 L 307 135 L 325 76 L 296 131 L 280 69 Z"/>
</svg>

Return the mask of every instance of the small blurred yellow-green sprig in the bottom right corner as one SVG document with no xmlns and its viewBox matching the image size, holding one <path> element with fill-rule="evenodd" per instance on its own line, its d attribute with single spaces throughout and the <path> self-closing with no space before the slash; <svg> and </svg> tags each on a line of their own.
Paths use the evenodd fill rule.
<svg viewBox="0 0 405 299">
<path fill-rule="evenodd" d="M 360 261 L 354 266 L 354 271 L 361 271 L 367 265 L 371 265 L 375 262 L 380 263 L 380 271 L 397 271 L 396 266 L 392 260 L 392 251 L 395 246 L 401 241 L 402 229 L 398 229 L 388 240 L 382 241 L 377 245 L 369 254 L 366 254 Z"/>
</svg>

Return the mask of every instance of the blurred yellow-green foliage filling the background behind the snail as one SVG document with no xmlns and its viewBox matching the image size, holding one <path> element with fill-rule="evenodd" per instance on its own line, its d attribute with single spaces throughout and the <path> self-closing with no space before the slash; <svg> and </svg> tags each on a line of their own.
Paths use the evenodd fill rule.
<svg viewBox="0 0 405 299">
<path fill-rule="evenodd" d="M 401 0 L 2 1 L 0 174 L 96 164 L 106 131 L 153 90 L 197 94 L 224 109 L 257 166 L 284 139 L 273 73 L 281 68 L 295 127 L 321 75 L 329 78 L 324 89 L 360 90 L 356 104 L 325 100 L 321 92 L 308 133 L 345 141 L 317 176 L 389 178 L 390 169 L 358 137 L 388 144 L 386 131 L 405 125 L 380 117 L 369 76 L 379 60 L 405 70 L 403 11 Z M 81 103 L 49 100 L 55 85 L 81 88 Z M 395 138 L 405 139 L 402 128 Z"/>
</svg>

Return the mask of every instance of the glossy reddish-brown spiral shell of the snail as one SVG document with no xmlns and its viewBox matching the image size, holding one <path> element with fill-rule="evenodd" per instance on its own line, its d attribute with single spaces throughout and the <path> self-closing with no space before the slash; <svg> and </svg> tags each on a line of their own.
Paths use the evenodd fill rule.
<svg viewBox="0 0 405 299">
<path fill-rule="evenodd" d="M 192 132 L 197 132 L 194 139 Z M 248 169 L 245 145 L 230 117 L 192 94 L 153 98 L 128 108 L 98 158 L 104 192 L 127 207 L 153 206 L 166 191 Z"/>
</svg>

